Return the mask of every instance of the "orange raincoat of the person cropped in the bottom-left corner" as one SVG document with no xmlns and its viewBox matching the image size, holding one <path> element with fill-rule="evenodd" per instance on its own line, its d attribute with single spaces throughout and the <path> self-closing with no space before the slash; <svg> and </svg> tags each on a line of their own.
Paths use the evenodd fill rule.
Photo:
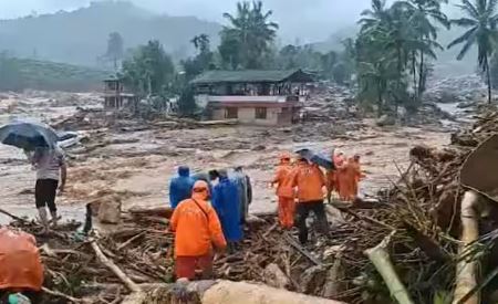
<svg viewBox="0 0 498 304">
<path fill-rule="evenodd" d="M 0 290 L 40 291 L 43 265 L 33 235 L 0 229 Z"/>
</svg>

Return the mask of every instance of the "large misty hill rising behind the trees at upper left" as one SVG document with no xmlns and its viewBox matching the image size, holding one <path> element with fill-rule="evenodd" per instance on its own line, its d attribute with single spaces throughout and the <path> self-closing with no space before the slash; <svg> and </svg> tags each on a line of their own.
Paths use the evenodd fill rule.
<svg viewBox="0 0 498 304">
<path fill-rule="evenodd" d="M 193 52 L 190 40 L 206 33 L 217 43 L 221 25 L 195 17 L 157 15 L 128 2 L 93 2 L 75 11 L 0 21 L 0 50 L 22 57 L 95 65 L 107 36 L 120 32 L 125 48 L 159 40 L 175 59 Z"/>
</svg>

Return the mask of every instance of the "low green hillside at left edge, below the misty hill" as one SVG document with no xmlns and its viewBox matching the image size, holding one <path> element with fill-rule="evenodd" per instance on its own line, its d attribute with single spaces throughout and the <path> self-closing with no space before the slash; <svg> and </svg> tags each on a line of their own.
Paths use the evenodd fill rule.
<svg viewBox="0 0 498 304">
<path fill-rule="evenodd" d="M 102 86 L 108 72 L 89 67 L 0 55 L 0 91 L 89 91 Z"/>
</svg>

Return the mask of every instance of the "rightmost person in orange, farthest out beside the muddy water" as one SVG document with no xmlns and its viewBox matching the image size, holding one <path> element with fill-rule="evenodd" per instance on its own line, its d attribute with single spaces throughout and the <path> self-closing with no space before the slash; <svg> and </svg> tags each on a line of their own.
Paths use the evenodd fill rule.
<svg viewBox="0 0 498 304">
<path fill-rule="evenodd" d="M 339 169 L 341 187 L 339 197 L 344 201 L 352 201 L 357 197 L 359 182 L 363 177 L 360 168 L 360 156 L 351 157 L 346 164 Z"/>
</svg>

